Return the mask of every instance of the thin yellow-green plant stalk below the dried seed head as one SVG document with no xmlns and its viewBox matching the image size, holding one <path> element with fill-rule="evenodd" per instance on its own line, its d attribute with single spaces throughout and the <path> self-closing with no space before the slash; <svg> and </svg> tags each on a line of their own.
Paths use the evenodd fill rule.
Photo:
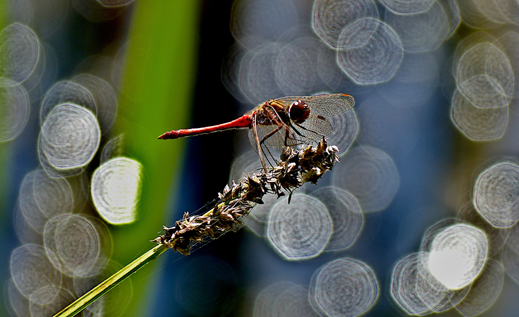
<svg viewBox="0 0 519 317">
<path fill-rule="evenodd" d="M 168 248 L 164 244 L 157 244 L 157 246 L 139 256 L 135 261 L 128 264 L 124 268 L 121 268 L 118 272 L 104 280 L 101 284 L 95 286 L 88 293 L 76 299 L 72 304 L 54 315 L 54 317 L 74 316 L 88 305 L 92 304 L 92 302 L 97 300 L 99 297 L 103 296 L 106 292 L 110 291 L 117 284 L 127 279 L 140 268 L 155 260 L 157 256 L 162 254 L 167 249 Z"/>
</svg>

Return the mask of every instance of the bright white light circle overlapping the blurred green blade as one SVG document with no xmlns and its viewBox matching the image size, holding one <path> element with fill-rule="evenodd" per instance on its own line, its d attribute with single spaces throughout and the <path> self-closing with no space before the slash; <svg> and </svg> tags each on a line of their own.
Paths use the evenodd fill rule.
<svg viewBox="0 0 519 317">
<path fill-rule="evenodd" d="M 101 217 L 111 224 L 135 220 L 141 189 L 141 163 L 115 157 L 95 169 L 92 200 Z"/>
</svg>

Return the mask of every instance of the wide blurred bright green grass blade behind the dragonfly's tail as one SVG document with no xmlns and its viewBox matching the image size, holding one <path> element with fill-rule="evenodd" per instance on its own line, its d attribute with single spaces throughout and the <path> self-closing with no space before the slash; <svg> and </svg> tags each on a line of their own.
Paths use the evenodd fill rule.
<svg viewBox="0 0 519 317">
<path fill-rule="evenodd" d="M 178 185 L 184 141 L 158 140 L 189 124 L 196 81 L 199 1 L 135 1 L 121 70 L 118 120 L 124 154 L 143 166 L 142 194 L 134 223 L 112 226 L 116 263 L 130 263 L 169 219 Z M 168 142 L 171 141 L 171 142 Z M 143 249 L 145 248 L 145 249 Z M 160 261 L 160 260 L 159 260 Z M 125 317 L 147 314 L 154 300 L 151 275 L 157 261 L 134 273 Z"/>
</svg>

